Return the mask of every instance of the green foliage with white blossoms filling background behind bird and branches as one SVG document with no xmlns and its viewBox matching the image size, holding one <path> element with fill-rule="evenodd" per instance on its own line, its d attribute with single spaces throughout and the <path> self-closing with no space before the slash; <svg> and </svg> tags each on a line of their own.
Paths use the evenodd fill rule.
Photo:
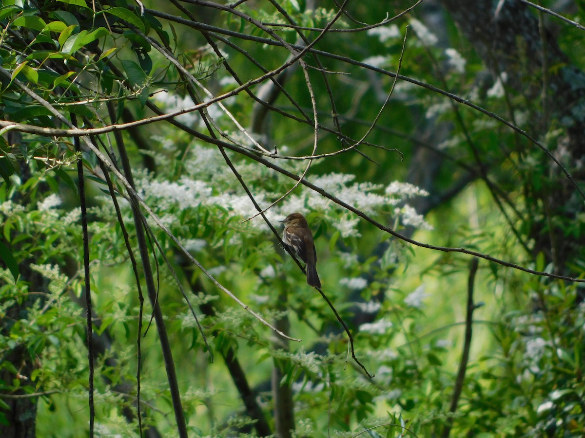
<svg viewBox="0 0 585 438">
<path fill-rule="evenodd" d="M 170 4 L 145 2 L 142 13 L 139 6 L 126 2 L 106 2 L 102 11 L 83 0 L 4 2 L 0 62 L 8 75 L 2 77 L 2 120 L 62 127 L 47 106 L 19 84 L 66 117 L 76 114 L 82 128 L 127 123 L 125 112 L 134 120 L 153 116 L 147 103 L 166 112 L 190 107 L 194 82 L 169 58 L 178 60 L 199 81 L 201 96 L 205 96 L 202 86 L 221 95 L 237 85 L 224 62 L 245 83 L 264 74 L 262 68 L 280 67 L 290 55 L 282 47 L 254 41 L 253 37 L 267 38 L 269 33 L 253 20 L 265 23 L 287 43 L 301 44 L 297 32 L 285 26 L 287 15 L 299 26 L 311 28 L 325 26 L 337 11 L 333 4 L 319 4 L 312 11 L 308 2 L 284 1 L 278 10 L 268 2 L 249 1 L 236 8 L 248 20 L 226 11 L 229 6 L 193 3 L 185 3 L 187 9 L 180 11 Z M 580 9 L 574 13 L 582 15 L 581 2 L 577 3 Z M 350 16 L 376 23 L 408 6 L 393 1 L 348 8 Z M 185 26 L 148 7 L 185 20 L 191 15 L 216 26 L 207 32 L 221 47 L 222 57 L 196 26 Z M 538 148 L 494 119 L 427 88 L 398 81 L 367 135 L 368 144 L 357 147 L 362 154 L 342 151 L 351 145 L 349 139 L 357 142 L 367 133 L 393 84 L 391 76 L 359 62 L 395 72 L 400 57 L 400 74 L 501 114 L 535 133 L 551 150 L 562 144 L 566 135 L 562 121 L 539 126 L 538 96 L 498 84 L 448 14 L 435 7 L 414 8 L 377 31 L 337 32 L 360 27 L 342 16 L 333 26 L 336 32 L 326 34 L 316 46 L 337 57 L 322 55 L 322 65 L 317 65 L 305 55 L 322 124 L 316 154 L 333 154 L 315 159 L 305 178 L 420 242 L 464 246 L 529 269 L 583 277 L 582 251 L 567 256 L 563 266 L 555 266 L 550 253 L 540 250 L 546 245 L 538 244 L 550 237 L 546 232 L 553 234 L 550 230 L 558 232 L 560 239 L 581 241 L 583 214 L 576 209 L 569 221 L 558 211 L 547 210 L 542 193 L 555 196 L 556 170 L 551 170 L 549 158 Z M 441 20 L 441 26 L 425 27 L 430 18 Z M 226 38 L 233 46 L 218 38 L 222 29 L 229 31 Z M 307 29 L 305 34 L 314 38 L 318 32 Z M 560 47 L 579 68 L 583 67 L 581 35 L 564 25 L 558 29 Z M 158 46 L 167 46 L 167 57 Z M 306 120 L 312 117 L 311 93 L 299 67 L 284 84 L 291 99 L 278 96 L 274 105 L 281 112 L 270 114 L 261 133 L 267 139 L 264 147 L 276 148 L 278 156 L 264 158 L 300 175 L 307 160 L 283 156 L 312 153 L 314 126 Z M 258 93 L 259 87 L 252 91 Z M 114 117 L 108 114 L 106 102 L 115 106 Z M 223 105 L 243 127 L 252 122 L 255 103 L 245 91 L 223 100 Z M 207 111 L 215 130 L 221 131 L 219 138 L 254 147 L 226 111 L 218 105 Z M 336 132 L 332 113 L 339 117 L 345 139 Z M 197 112 L 176 120 L 208 135 Z M 0 255 L 6 268 L 0 269 L 0 425 L 11 418 L 13 396 L 37 394 L 37 436 L 87 435 L 89 364 L 74 172 L 82 159 L 91 206 L 94 332 L 105 343 L 94 364 L 96 433 L 138 436 L 140 371 L 143 429 L 152 426 L 163 436 L 174 436 L 159 340 L 152 327 L 144 333 L 152 310 L 145 305 L 143 329 L 138 333 L 137 286 L 97 158 L 91 151 L 75 152 L 71 138 L 15 134 L 17 129 L 6 126 L 0 144 Z M 315 234 L 324 291 L 350 326 L 357 358 L 376 375 L 367 378 L 349 356 L 347 336 L 335 315 L 305 284 L 304 274 L 278 247 L 264 221 L 260 217 L 246 221 L 256 210 L 216 145 L 167 122 L 137 129 L 139 133 L 123 130 L 123 139 L 137 192 L 154 214 L 219 283 L 268 321 L 287 318 L 289 334 L 302 339 L 291 342 L 288 350 L 279 349 L 276 335 L 191 266 L 147 217 L 152 239 L 159 241 L 177 271 L 215 357 L 211 363 L 187 303 L 151 244 L 150 262 L 192 436 L 254 434 L 254 420 L 245 413 L 223 366 L 221 357 L 230 352 L 240 361 L 271 426 L 270 375 L 273 367 L 281 371 L 281 384 L 290 385 L 294 394 L 295 436 L 438 436 L 447 425 L 452 425 L 451 436 L 584 434 L 585 307 L 579 298 L 580 283 L 481 260 L 474 283 L 478 306 L 471 356 L 459 404 L 450 413 L 463 345 L 469 256 L 433 252 L 389 238 L 303 186 L 267 211 L 272 224 L 292 210 L 307 217 Z M 92 141 L 111 151 L 116 162 L 113 135 L 99 133 Z M 435 155 L 425 158 L 421 151 Z M 292 179 L 244 154 L 227 154 L 261 207 L 294 186 Z M 154 168 L 144 168 L 146 158 L 153 160 Z M 567 166 L 576 165 L 566 163 L 562 154 L 560 159 Z M 439 167 L 433 170 L 436 164 Z M 482 172 L 493 185 L 480 179 Z M 415 173 L 428 176 L 428 181 L 413 178 Z M 130 241 L 136 245 L 126 190 L 118 178 L 112 175 L 112 179 Z M 413 207 L 424 210 L 425 217 Z M 138 268 L 142 274 L 142 267 Z M 211 304 L 215 314 L 203 314 L 199 306 L 205 304 Z M 23 370 L 31 372 L 21 374 Z"/>
</svg>

